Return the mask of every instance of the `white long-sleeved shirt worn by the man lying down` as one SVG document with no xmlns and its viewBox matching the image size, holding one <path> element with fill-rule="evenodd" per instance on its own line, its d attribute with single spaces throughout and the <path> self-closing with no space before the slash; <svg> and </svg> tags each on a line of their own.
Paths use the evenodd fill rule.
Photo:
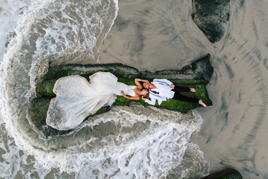
<svg viewBox="0 0 268 179">
<path fill-rule="evenodd" d="M 166 99 L 173 98 L 174 91 L 171 91 L 173 88 L 170 87 L 172 84 L 171 81 L 167 79 L 154 79 L 152 82 L 157 88 L 155 89 L 149 89 L 149 98 L 151 100 L 146 99 L 145 102 L 155 105 L 155 101 L 158 101 L 158 104 L 160 105 L 162 101 L 166 101 Z M 157 93 L 159 94 L 157 94 Z"/>
</svg>

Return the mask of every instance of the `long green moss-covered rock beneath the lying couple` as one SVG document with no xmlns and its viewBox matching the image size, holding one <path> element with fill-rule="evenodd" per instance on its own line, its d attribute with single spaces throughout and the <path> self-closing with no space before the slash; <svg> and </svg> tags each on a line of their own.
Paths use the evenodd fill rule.
<svg viewBox="0 0 268 179">
<path fill-rule="evenodd" d="M 182 70 L 161 70 L 156 71 L 154 73 L 149 71 L 139 72 L 133 67 L 125 66 L 122 64 L 69 64 L 50 67 L 48 69 L 48 72 L 37 84 L 36 93 L 38 98 L 33 99 L 30 104 L 30 114 L 33 124 L 46 136 L 68 133 L 70 130 L 59 131 L 46 125 L 46 112 L 49 107 L 50 99 L 56 96 L 53 93 L 54 84 L 57 79 L 68 75 L 80 75 L 89 80 L 88 76 L 98 71 L 111 72 L 116 75 L 118 81 L 128 85 L 135 85 L 135 78 L 148 79 L 149 81 L 152 81 L 154 78 L 166 78 L 172 81 L 174 85 L 195 88 L 196 92 L 187 92 L 182 94 L 188 97 L 202 99 L 205 104 L 211 106 L 212 101 L 209 99 L 208 92 L 205 87 L 205 85 L 208 84 L 209 79 L 213 74 L 213 68 L 210 64 L 209 58 L 210 55 L 208 54 L 204 58 L 191 64 L 192 67 L 187 65 L 183 67 Z M 144 106 L 150 106 L 142 99 L 128 100 L 123 96 L 118 96 L 116 102 L 113 103 L 113 106 L 130 104 L 141 104 Z M 201 107 L 201 105 L 169 99 L 167 101 L 163 101 L 160 106 L 158 105 L 158 103 L 156 103 L 155 107 L 186 113 L 191 109 Z M 98 115 L 107 111 L 109 111 L 109 107 L 102 107 L 94 115 Z"/>
</svg>

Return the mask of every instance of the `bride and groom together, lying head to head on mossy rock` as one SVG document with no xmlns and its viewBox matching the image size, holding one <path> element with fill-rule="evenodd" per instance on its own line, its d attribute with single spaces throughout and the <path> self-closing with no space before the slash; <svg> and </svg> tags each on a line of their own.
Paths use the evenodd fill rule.
<svg viewBox="0 0 268 179">
<path fill-rule="evenodd" d="M 123 95 L 132 100 L 142 98 L 152 105 L 156 100 L 160 105 L 162 101 L 172 98 L 199 103 L 206 107 L 201 99 L 180 94 L 180 92 L 195 92 L 194 88 L 177 87 L 167 79 L 154 79 L 152 83 L 149 83 L 148 80 L 136 78 L 136 86 L 117 81 L 117 77 L 110 72 L 96 72 L 89 79 L 88 82 L 82 76 L 71 75 L 56 81 L 53 92 L 57 96 L 50 101 L 46 124 L 58 130 L 73 129 L 101 107 L 111 106 L 117 95 Z"/>
</svg>

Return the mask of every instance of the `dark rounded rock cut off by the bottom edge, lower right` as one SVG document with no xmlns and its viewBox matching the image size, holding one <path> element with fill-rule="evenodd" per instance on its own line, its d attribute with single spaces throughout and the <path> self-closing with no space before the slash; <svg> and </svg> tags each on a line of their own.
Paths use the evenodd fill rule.
<svg viewBox="0 0 268 179">
<path fill-rule="evenodd" d="M 242 179 L 242 175 L 235 169 L 225 169 L 200 179 Z"/>
</svg>

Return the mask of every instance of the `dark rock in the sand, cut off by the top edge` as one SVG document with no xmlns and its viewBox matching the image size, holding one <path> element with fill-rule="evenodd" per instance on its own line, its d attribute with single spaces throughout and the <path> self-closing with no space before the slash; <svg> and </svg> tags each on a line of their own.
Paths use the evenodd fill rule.
<svg viewBox="0 0 268 179">
<path fill-rule="evenodd" d="M 192 1 L 192 18 L 211 43 L 219 41 L 224 35 L 225 29 L 222 23 L 226 23 L 229 20 L 229 1 Z"/>
</svg>

